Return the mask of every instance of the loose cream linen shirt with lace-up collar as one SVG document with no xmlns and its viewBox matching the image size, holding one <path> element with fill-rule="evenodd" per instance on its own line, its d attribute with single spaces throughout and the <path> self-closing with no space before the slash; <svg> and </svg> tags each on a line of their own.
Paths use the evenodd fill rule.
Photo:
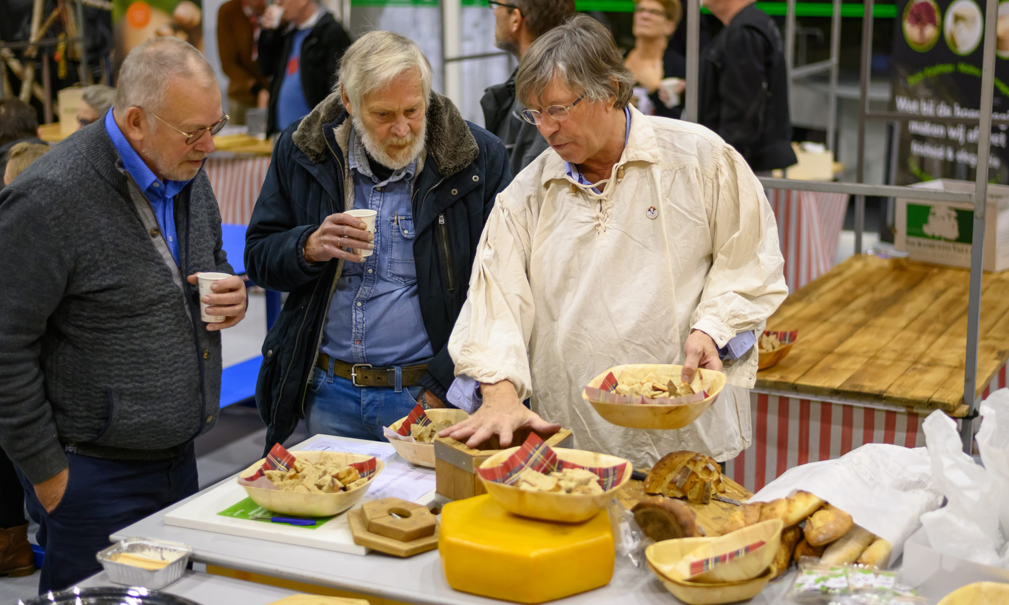
<svg viewBox="0 0 1009 605">
<path fill-rule="evenodd" d="M 651 466 L 676 450 L 728 460 L 750 446 L 751 349 L 692 425 L 625 429 L 581 398 L 615 365 L 683 363 L 691 329 L 725 346 L 788 293 L 774 214 L 743 157 L 710 130 L 645 116 L 602 194 L 547 149 L 497 197 L 449 341 L 456 375 L 511 380 L 579 449 Z"/>
</svg>

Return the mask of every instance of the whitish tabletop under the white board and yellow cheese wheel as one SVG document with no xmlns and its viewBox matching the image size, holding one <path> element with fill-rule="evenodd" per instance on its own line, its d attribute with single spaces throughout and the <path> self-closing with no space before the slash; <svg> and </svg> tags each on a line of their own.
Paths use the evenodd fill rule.
<svg viewBox="0 0 1009 605">
<path fill-rule="evenodd" d="M 297 446 L 292 449 L 297 449 Z M 217 485 L 234 481 L 236 476 L 237 473 Z M 216 485 L 124 527 L 112 534 L 112 541 L 144 536 L 183 542 L 193 549 L 192 561 L 195 562 L 418 605 L 487 605 L 501 602 L 452 589 L 445 580 L 437 551 L 410 559 L 378 553 L 350 555 L 164 524 L 165 512 L 214 487 Z M 772 583 L 750 603 L 779 603 L 791 584 L 791 576 L 788 574 Z M 678 601 L 647 569 L 636 568 L 626 558 L 618 558 L 613 578 L 608 585 L 554 603 L 670 605 Z"/>
</svg>

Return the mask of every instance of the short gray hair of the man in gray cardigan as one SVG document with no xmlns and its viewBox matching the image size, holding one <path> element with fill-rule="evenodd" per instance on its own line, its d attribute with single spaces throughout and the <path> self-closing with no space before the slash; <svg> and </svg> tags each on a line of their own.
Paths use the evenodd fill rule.
<svg viewBox="0 0 1009 605">
<path fill-rule="evenodd" d="M 119 68 L 115 111 L 142 107 L 148 112 L 164 107 L 169 83 L 174 76 L 203 81 L 217 88 L 214 69 L 193 44 L 172 36 L 153 37 L 135 46 Z M 147 120 L 153 125 L 153 117 Z"/>
</svg>

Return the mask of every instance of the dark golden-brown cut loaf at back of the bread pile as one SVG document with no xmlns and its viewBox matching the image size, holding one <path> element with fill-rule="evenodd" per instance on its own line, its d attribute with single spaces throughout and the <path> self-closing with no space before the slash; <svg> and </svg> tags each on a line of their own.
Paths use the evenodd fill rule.
<svg viewBox="0 0 1009 605">
<path fill-rule="evenodd" d="M 721 468 L 710 456 L 681 450 L 663 456 L 645 477 L 645 493 L 686 498 L 703 504 L 723 493 Z"/>
</svg>

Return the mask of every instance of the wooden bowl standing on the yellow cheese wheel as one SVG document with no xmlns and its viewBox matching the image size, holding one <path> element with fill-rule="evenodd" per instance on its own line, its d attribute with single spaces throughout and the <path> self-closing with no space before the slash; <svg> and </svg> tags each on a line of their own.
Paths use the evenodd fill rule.
<svg viewBox="0 0 1009 605">
<path fill-rule="evenodd" d="M 501 508 L 520 516 L 543 519 L 546 521 L 562 521 L 578 523 L 594 517 L 606 507 L 616 492 L 631 480 L 631 463 L 623 458 L 596 454 L 583 450 L 567 448 L 552 448 L 561 460 L 567 460 L 585 467 L 611 467 L 627 463 L 628 468 L 620 484 L 601 494 L 566 494 L 558 492 L 531 492 L 503 483 L 494 483 L 480 477 L 483 487 Z M 480 468 L 489 468 L 503 463 L 519 448 L 509 448 L 494 454 L 483 461 Z M 479 476 L 479 475 L 478 475 Z"/>
</svg>

